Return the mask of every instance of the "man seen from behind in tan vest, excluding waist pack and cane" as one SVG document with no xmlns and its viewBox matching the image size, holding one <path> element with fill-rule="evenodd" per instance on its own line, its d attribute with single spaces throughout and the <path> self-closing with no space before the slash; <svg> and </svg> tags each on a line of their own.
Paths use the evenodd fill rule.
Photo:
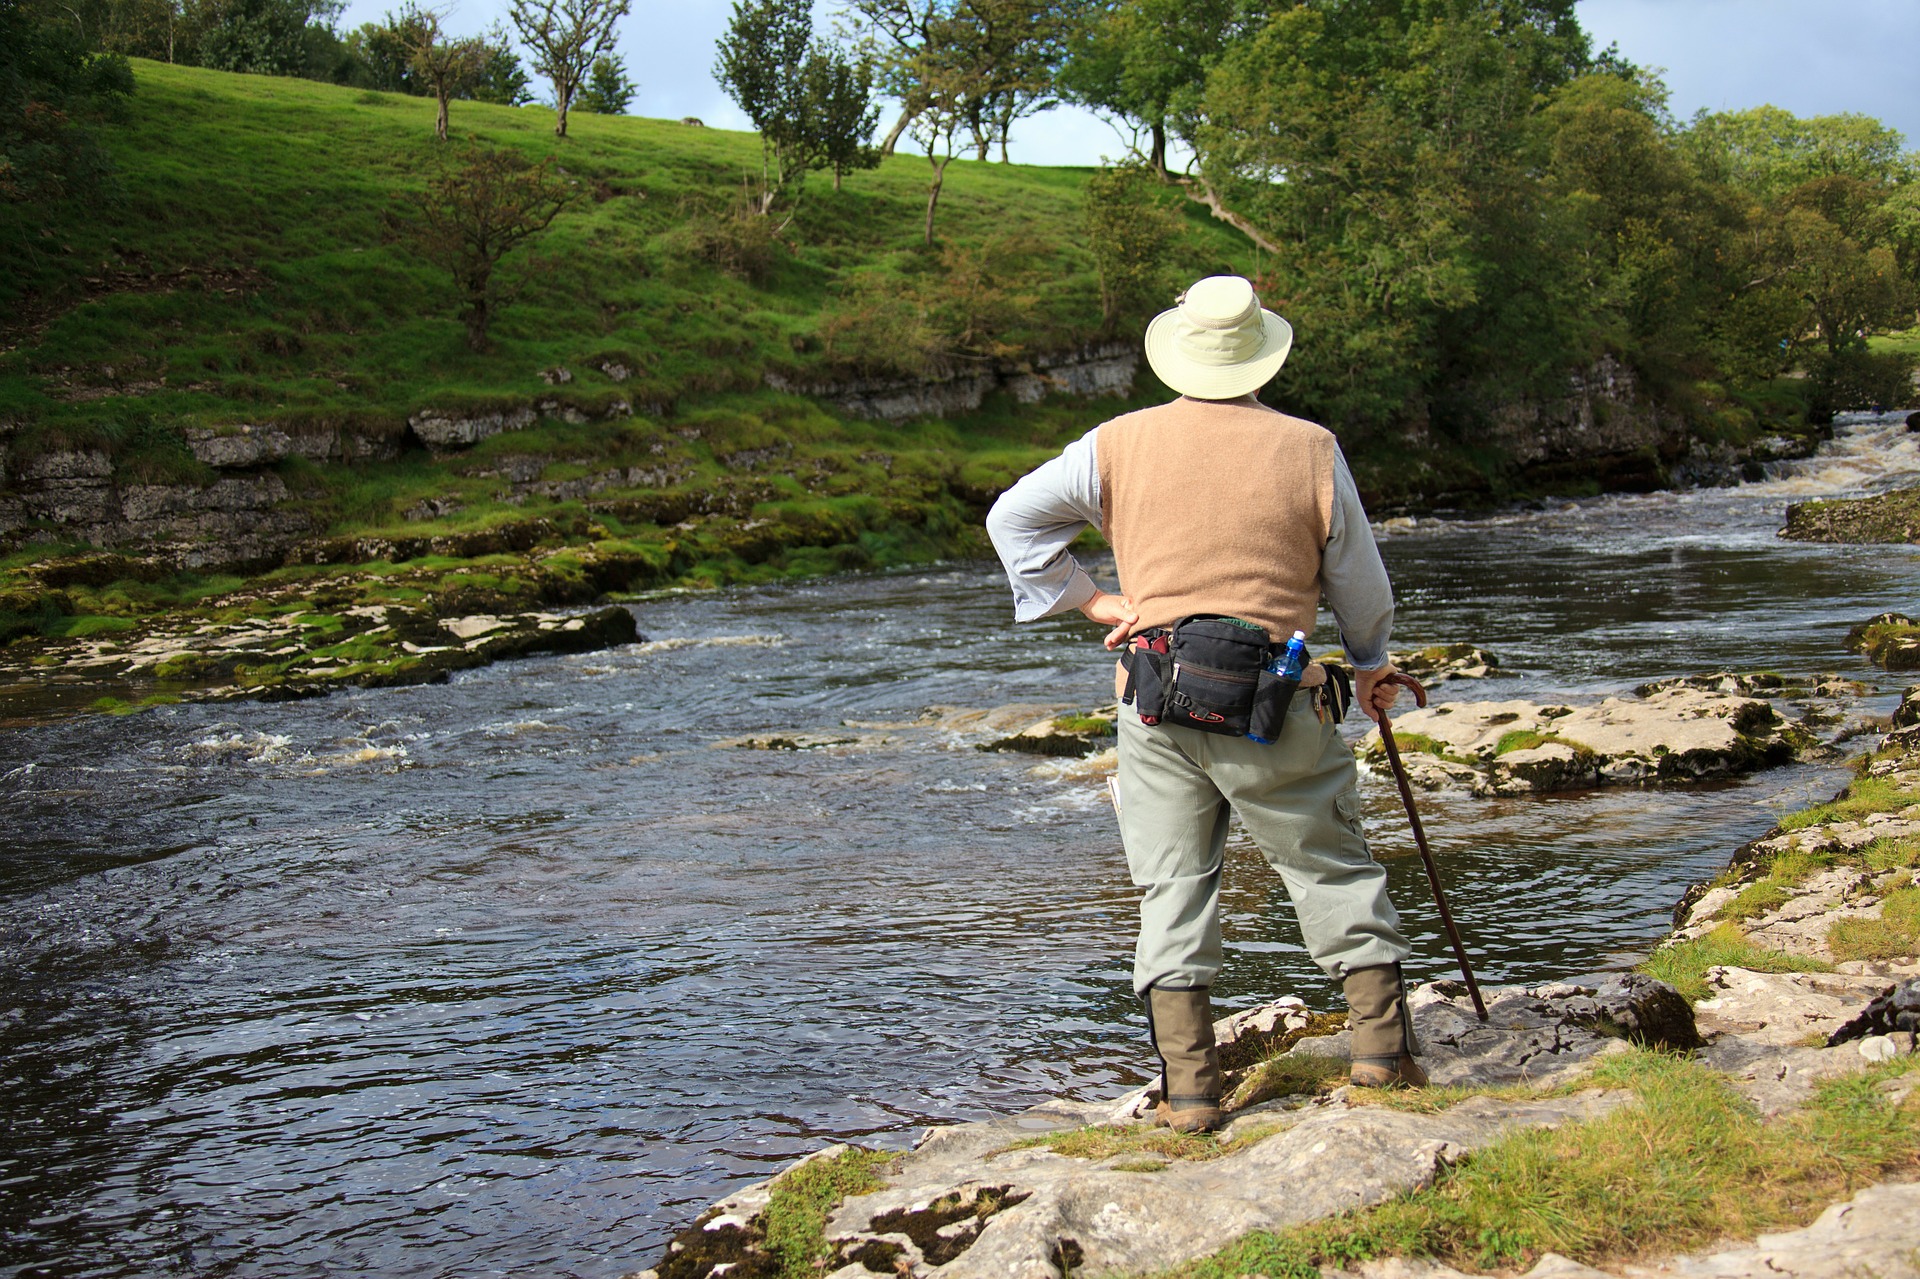
<svg viewBox="0 0 1920 1279">
<path fill-rule="evenodd" d="M 1325 593 L 1357 670 L 1356 701 L 1379 720 L 1396 693 L 1384 682 L 1394 597 L 1354 476 L 1331 432 L 1256 399 L 1290 348 L 1292 328 L 1240 277 L 1204 278 L 1158 315 L 1146 359 L 1181 398 L 1087 432 L 987 517 L 1016 620 L 1079 609 L 1121 649 L 1219 615 L 1277 647 L 1311 634 Z M 1068 551 L 1087 526 L 1114 545 L 1117 595 Z M 1119 833 L 1146 889 L 1133 987 L 1162 1060 L 1156 1116 L 1179 1131 L 1221 1123 L 1208 989 L 1221 964 L 1229 812 L 1284 880 L 1313 960 L 1344 985 L 1354 1083 L 1427 1083 L 1400 974 L 1409 947 L 1361 835 L 1354 753 L 1325 714 L 1336 697 L 1319 666 L 1302 689 L 1273 743 L 1119 709 Z"/>
</svg>

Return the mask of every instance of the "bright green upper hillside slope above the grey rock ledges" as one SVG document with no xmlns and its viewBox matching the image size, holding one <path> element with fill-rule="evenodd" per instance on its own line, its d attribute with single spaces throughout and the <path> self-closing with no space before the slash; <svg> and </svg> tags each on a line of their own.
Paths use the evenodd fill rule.
<svg viewBox="0 0 1920 1279">
<path fill-rule="evenodd" d="M 701 250 L 737 223 L 726 213 L 758 171 L 753 134 L 582 113 L 555 138 L 543 108 L 455 104 L 457 138 L 551 156 L 580 190 L 518 263 L 520 300 L 478 355 L 461 342 L 445 273 L 405 234 L 434 163 L 459 150 L 434 140 L 432 102 L 134 65 L 131 119 L 108 133 L 119 202 L 29 236 L 0 284 L 17 288 L 10 302 L 27 321 L 10 326 L 19 346 L 0 367 L 0 413 L 46 430 L 86 436 L 134 415 L 397 428 L 422 405 L 543 392 L 540 371 L 555 365 L 605 388 L 582 367 L 597 355 L 637 369 L 624 390 L 653 405 L 753 392 L 766 371 L 887 373 L 902 351 L 862 342 L 854 311 L 897 298 L 954 305 L 983 282 L 1002 294 L 985 303 L 1002 313 L 987 325 L 995 344 L 1062 350 L 1098 330 L 1085 171 L 956 161 L 943 250 L 920 244 L 922 157 L 851 175 L 843 192 L 814 175 L 764 277 L 749 280 Z M 1188 250 L 1188 269 L 1246 267 L 1236 238 L 1204 217 Z M 837 344 L 822 334 L 835 319 Z M 136 396 L 92 398 L 134 384 Z"/>
</svg>

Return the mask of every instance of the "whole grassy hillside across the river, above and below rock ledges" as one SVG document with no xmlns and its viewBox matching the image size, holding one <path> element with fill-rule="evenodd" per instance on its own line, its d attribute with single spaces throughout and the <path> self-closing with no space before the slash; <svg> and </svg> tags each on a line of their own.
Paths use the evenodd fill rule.
<svg viewBox="0 0 1920 1279">
<path fill-rule="evenodd" d="M 392 451 L 422 409 L 557 401 L 532 428 L 447 457 L 275 463 L 332 543 L 324 567 L 252 588 L 351 576 L 357 597 L 507 607 L 977 553 L 991 494 L 1117 407 L 989 401 L 964 421 L 891 426 L 766 384 L 964 371 L 1096 338 L 1085 171 L 954 161 L 929 250 L 929 167 L 895 156 L 841 192 L 814 175 L 768 244 L 737 215 L 760 161 L 753 134 L 576 113 L 561 140 L 547 109 L 455 104 L 449 148 L 430 100 L 134 71 L 129 117 L 104 129 L 115 200 L 50 227 L 0 209 L 10 472 L 94 447 L 117 484 L 192 484 L 215 472 L 182 430 L 326 428 Z M 518 296 L 488 353 L 467 348 L 451 280 L 409 230 L 465 138 L 553 157 L 580 192 L 509 259 Z M 1181 217 L 1173 275 L 1250 269 L 1233 232 L 1198 209 Z M 603 419 L 614 399 L 632 417 Z M 589 421 L 561 421 L 570 409 Z M 60 538 L 48 526 L 0 557 L 0 641 L 111 632 L 242 584 L 73 563 L 84 547 Z"/>
</svg>

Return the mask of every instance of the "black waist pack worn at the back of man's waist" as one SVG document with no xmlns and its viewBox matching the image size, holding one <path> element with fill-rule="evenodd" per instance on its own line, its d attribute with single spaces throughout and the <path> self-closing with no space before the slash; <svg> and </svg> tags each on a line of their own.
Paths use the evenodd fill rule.
<svg viewBox="0 0 1920 1279">
<path fill-rule="evenodd" d="M 1179 724 L 1223 737 L 1273 741 L 1300 678 L 1267 664 L 1283 651 L 1267 632 L 1233 616 L 1196 613 L 1135 638 L 1121 701 L 1142 724 Z"/>
</svg>

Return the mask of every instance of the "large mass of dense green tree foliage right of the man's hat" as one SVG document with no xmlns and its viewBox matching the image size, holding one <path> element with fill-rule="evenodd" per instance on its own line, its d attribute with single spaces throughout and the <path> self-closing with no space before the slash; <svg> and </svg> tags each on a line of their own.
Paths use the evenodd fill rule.
<svg viewBox="0 0 1920 1279">
<path fill-rule="evenodd" d="M 1263 253 L 1300 336 L 1288 407 L 1350 446 L 1469 446 L 1603 359 L 1682 403 L 1799 371 L 1814 419 L 1908 394 L 1866 350 L 1920 296 L 1916 167 L 1876 121 L 1682 129 L 1571 0 L 1102 13 L 1062 83 L 1150 134 L 1150 171 L 1192 150 L 1175 181 Z"/>
</svg>

